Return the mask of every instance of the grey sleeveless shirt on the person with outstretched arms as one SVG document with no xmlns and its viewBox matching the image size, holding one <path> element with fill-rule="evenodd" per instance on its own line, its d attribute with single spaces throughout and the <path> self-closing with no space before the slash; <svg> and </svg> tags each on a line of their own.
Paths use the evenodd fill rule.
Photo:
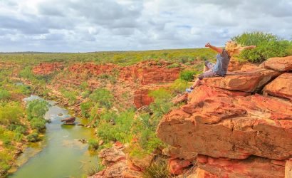
<svg viewBox="0 0 292 178">
<path fill-rule="evenodd" d="M 223 49 L 222 53 L 218 53 L 217 56 L 217 62 L 213 68 L 214 73 L 218 75 L 225 75 L 227 73 L 227 68 L 229 65 L 230 57 L 228 56 L 228 53 Z"/>
</svg>

